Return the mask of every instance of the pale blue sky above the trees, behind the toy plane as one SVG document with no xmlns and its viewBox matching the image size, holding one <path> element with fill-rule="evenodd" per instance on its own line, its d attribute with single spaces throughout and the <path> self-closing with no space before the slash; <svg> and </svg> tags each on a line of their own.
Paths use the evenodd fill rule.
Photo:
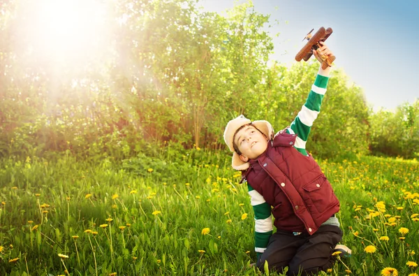
<svg viewBox="0 0 419 276">
<path fill-rule="evenodd" d="M 200 6 L 226 15 L 235 2 L 246 0 L 200 0 Z M 270 15 L 270 22 L 279 22 L 270 28 L 272 59 L 288 66 L 297 62 L 302 38 L 311 29 L 331 27 L 326 43 L 336 56 L 334 66 L 362 88 L 369 106 L 395 110 L 419 99 L 418 0 L 253 0 L 253 5 Z"/>
</svg>

